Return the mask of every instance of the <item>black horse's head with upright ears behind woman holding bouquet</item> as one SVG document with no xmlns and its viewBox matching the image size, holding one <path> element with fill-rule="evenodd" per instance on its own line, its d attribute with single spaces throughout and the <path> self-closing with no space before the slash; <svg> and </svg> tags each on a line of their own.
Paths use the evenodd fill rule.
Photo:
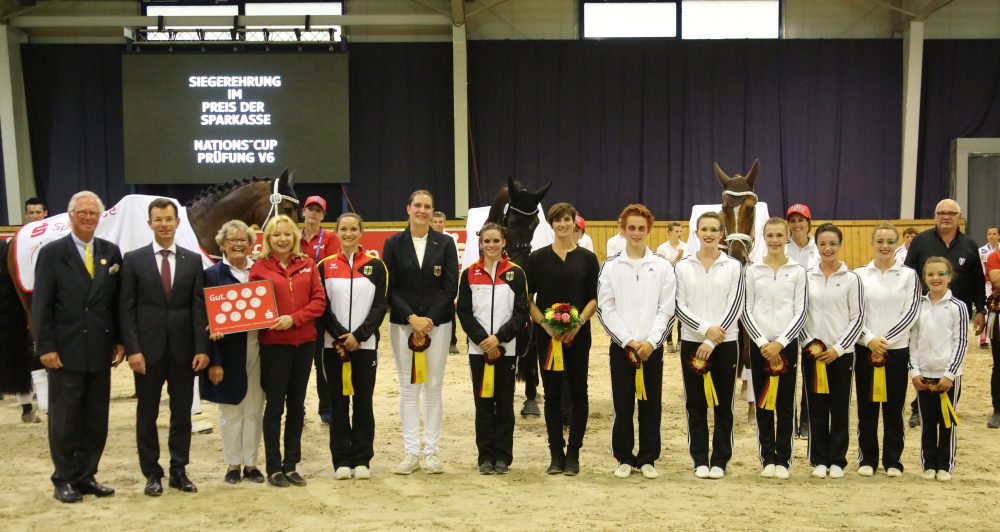
<svg viewBox="0 0 1000 532">
<path fill-rule="evenodd" d="M 531 253 L 531 237 L 538 227 L 538 203 L 551 186 L 549 183 L 538 190 L 528 190 L 513 177 L 508 177 L 507 186 L 500 189 L 490 205 L 486 221 L 504 227 L 507 240 L 504 251 L 518 264 L 524 264 Z"/>
</svg>

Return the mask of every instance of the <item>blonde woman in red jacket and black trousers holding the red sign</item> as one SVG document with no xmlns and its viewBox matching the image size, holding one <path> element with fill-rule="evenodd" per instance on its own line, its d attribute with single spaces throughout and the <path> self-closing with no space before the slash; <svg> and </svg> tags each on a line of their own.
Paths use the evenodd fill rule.
<svg viewBox="0 0 1000 532">
<path fill-rule="evenodd" d="M 267 481 L 279 488 L 305 486 L 295 471 L 302 454 L 306 386 L 312 369 L 316 327 L 313 320 L 326 308 L 319 271 L 300 248 L 295 222 L 277 216 L 264 226 L 264 249 L 250 268 L 250 280 L 270 280 L 278 319 L 260 332 L 261 386 L 264 388 L 264 454 Z M 281 456 L 281 415 L 285 418 L 285 456 Z"/>
</svg>

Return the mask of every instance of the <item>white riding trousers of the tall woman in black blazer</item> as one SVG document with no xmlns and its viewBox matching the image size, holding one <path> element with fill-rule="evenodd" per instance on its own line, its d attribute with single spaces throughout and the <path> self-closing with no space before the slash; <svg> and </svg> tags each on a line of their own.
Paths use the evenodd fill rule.
<svg viewBox="0 0 1000 532">
<path fill-rule="evenodd" d="M 438 453 L 441 439 L 441 417 L 444 404 L 441 391 L 444 387 L 444 365 L 448 361 L 448 344 L 451 342 L 453 323 L 434 327 L 431 346 L 427 355 L 427 382 L 410 384 L 413 371 L 413 351 L 407 340 L 412 328 L 409 325 L 389 324 L 389 342 L 396 359 L 399 377 L 399 417 L 403 425 L 403 450 L 406 454 L 420 455 L 420 395 L 424 396 L 424 454 Z"/>
</svg>

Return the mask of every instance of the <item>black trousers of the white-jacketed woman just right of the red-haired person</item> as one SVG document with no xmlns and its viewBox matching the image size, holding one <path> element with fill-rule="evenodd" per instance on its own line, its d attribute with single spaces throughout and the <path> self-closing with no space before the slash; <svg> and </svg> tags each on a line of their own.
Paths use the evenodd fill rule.
<svg viewBox="0 0 1000 532">
<path fill-rule="evenodd" d="M 708 401 L 705 399 L 705 376 L 688 367 L 687 361 L 698 350 L 700 342 L 681 341 L 681 376 L 684 379 L 684 406 L 688 421 L 688 450 L 694 466 L 712 465 L 726 469 L 733 456 L 733 394 L 736 391 L 736 364 L 740 352 L 736 341 L 715 347 L 709 361 L 712 382 L 719 396 L 714 407 L 715 428 L 712 431 L 712 456 L 708 454 Z"/>
</svg>

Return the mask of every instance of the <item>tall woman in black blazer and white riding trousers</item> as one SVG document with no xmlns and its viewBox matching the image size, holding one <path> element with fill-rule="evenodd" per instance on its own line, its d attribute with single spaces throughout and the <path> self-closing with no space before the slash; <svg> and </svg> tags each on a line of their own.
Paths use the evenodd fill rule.
<svg viewBox="0 0 1000 532">
<path fill-rule="evenodd" d="M 382 253 L 389 269 L 389 343 L 396 359 L 403 425 L 404 456 L 394 471 L 397 475 L 409 475 L 420 467 L 421 394 L 423 468 L 431 474 L 444 472 L 438 443 L 444 413 L 444 367 L 458 292 L 458 251 L 451 237 L 431 230 L 433 212 L 434 197 L 430 192 L 417 190 L 410 194 L 406 204 L 409 223 L 386 240 Z M 424 351 L 410 348 L 426 340 L 430 345 Z M 418 357 L 418 352 L 424 356 Z"/>
</svg>

